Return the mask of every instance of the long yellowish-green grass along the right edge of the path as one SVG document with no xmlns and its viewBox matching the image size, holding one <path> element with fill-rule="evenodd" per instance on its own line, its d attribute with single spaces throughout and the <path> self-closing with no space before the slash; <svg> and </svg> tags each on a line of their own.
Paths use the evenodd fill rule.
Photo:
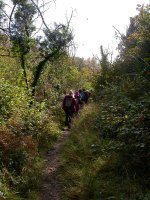
<svg viewBox="0 0 150 200">
<path fill-rule="evenodd" d="M 96 105 L 84 108 L 61 150 L 62 199 L 148 200 L 143 177 L 132 176 L 120 154 L 110 150 L 117 141 L 100 137 L 95 129 L 98 113 Z"/>
</svg>

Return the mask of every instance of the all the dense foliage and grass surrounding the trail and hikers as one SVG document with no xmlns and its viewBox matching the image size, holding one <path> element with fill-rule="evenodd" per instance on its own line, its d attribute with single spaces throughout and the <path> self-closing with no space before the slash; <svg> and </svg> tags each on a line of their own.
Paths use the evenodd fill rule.
<svg viewBox="0 0 150 200">
<path fill-rule="evenodd" d="M 7 15 L 0 1 L 0 198 L 38 199 L 40 153 L 61 134 L 62 99 L 84 87 L 94 88 L 93 102 L 62 151 L 64 199 L 149 199 L 149 5 L 118 35 L 113 63 L 101 46 L 98 68 L 68 55 L 69 22 L 49 28 L 32 0 L 11 2 Z M 34 37 L 37 16 L 44 37 Z"/>
</svg>

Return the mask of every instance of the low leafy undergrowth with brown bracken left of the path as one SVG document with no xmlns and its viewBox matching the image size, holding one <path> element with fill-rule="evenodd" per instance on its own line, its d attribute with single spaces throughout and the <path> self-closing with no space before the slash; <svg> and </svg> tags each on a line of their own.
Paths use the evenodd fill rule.
<svg viewBox="0 0 150 200">
<path fill-rule="evenodd" d="M 0 97 L 0 199 L 38 200 L 40 154 L 60 136 L 59 126 L 22 87 L 0 81 Z"/>
</svg>

